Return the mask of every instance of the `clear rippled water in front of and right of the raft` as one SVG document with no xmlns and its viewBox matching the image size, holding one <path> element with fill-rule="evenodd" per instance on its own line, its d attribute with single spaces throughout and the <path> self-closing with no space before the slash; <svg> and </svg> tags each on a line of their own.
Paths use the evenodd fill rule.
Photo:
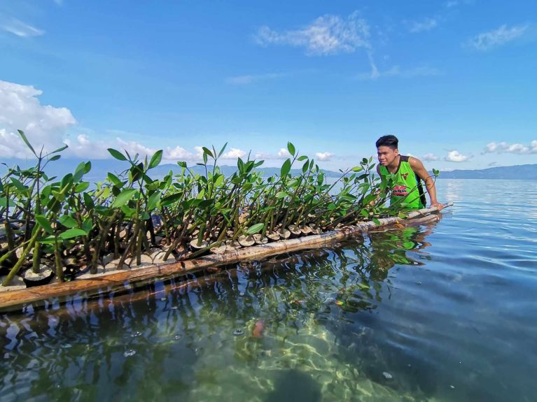
<svg viewBox="0 0 537 402">
<path fill-rule="evenodd" d="M 438 224 L 0 315 L 0 399 L 534 401 L 537 181 L 437 185 Z"/>
</svg>

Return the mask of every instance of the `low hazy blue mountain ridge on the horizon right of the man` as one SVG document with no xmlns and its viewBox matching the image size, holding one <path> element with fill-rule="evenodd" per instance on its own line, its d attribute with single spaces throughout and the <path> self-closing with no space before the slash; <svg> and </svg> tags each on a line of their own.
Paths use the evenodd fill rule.
<svg viewBox="0 0 537 402">
<path fill-rule="evenodd" d="M 441 171 L 440 179 L 537 180 L 537 164 L 497 166 L 480 170 Z"/>
</svg>

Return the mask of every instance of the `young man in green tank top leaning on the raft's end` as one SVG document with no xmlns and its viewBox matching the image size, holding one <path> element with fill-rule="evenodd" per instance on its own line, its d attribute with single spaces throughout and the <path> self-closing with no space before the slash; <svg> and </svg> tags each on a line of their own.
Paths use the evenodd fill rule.
<svg viewBox="0 0 537 402">
<path fill-rule="evenodd" d="M 399 155 L 399 140 L 396 136 L 382 136 L 377 140 L 377 156 L 379 164 L 377 173 L 383 181 L 390 174 L 395 175 L 391 188 L 391 205 L 400 205 L 405 208 L 424 208 L 426 199 L 421 180 L 431 199 L 431 206 L 444 208 L 444 205 L 436 200 L 435 183 L 431 175 L 419 159 Z M 405 204 L 405 205 L 403 205 Z"/>
</svg>

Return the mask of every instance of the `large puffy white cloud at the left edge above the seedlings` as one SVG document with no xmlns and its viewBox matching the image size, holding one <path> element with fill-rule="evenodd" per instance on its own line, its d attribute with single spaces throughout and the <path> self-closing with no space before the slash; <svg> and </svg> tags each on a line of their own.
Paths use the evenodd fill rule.
<svg viewBox="0 0 537 402">
<path fill-rule="evenodd" d="M 36 150 L 62 146 L 64 134 L 76 120 L 67 108 L 41 105 L 42 92 L 31 85 L 0 80 L 0 157 L 28 157 L 31 152 L 17 133 L 25 131 Z"/>
</svg>

